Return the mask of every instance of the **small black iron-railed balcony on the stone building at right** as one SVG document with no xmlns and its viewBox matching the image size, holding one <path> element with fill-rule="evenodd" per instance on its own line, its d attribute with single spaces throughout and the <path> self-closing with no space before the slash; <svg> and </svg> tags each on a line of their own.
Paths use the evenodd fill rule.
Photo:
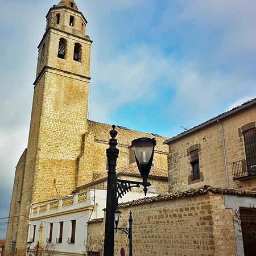
<svg viewBox="0 0 256 256">
<path fill-rule="evenodd" d="M 247 167 L 246 159 L 234 162 L 232 165 L 233 180 L 247 179 L 253 175 L 256 175 L 256 164 Z"/>
</svg>

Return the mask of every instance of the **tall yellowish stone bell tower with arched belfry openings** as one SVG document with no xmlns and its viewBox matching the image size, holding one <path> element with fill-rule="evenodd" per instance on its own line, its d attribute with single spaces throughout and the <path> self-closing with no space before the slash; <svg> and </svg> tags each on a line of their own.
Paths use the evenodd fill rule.
<svg viewBox="0 0 256 256">
<path fill-rule="evenodd" d="M 75 1 L 61 0 L 46 15 L 27 150 L 16 167 L 6 255 L 26 251 L 30 204 L 71 193 L 76 158 L 87 131 L 92 40 Z"/>
</svg>

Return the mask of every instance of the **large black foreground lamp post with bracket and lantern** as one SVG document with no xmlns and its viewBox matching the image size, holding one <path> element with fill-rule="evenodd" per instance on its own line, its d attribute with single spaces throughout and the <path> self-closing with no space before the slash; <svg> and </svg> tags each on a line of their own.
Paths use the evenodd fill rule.
<svg viewBox="0 0 256 256">
<path fill-rule="evenodd" d="M 117 165 L 119 150 L 117 148 L 117 139 L 115 139 L 117 136 L 115 125 L 112 125 L 112 128 L 113 130 L 109 133 L 112 138 L 109 140 L 109 148 L 106 150 L 109 170 L 106 198 L 104 256 L 114 256 L 114 213 L 118 206 L 118 199 L 131 191 L 131 188 L 138 188 L 140 185 L 144 187 L 143 191 L 145 195 L 147 194 L 147 187 L 151 185 L 147 182 L 147 178 L 150 173 L 154 156 L 154 147 L 156 145 L 154 138 L 139 138 L 132 141 L 131 144 L 134 147 L 136 162 L 143 181 L 117 179 L 117 176 L 115 175 L 115 166 Z"/>
</svg>

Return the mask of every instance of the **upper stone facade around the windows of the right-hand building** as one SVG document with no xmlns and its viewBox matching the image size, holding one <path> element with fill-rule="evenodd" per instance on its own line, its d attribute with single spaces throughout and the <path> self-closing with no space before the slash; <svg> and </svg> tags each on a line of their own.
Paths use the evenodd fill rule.
<svg viewBox="0 0 256 256">
<path fill-rule="evenodd" d="M 226 159 L 228 165 L 228 180 L 230 188 L 239 189 L 232 177 L 232 163 L 245 159 L 243 137 L 238 129 L 246 123 L 255 121 L 256 108 L 246 109 L 223 121 Z M 199 163 L 200 180 L 189 182 L 192 175 L 190 155 L 188 148 L 200 144 Z M 169 143 L 168 176 L 169 191 L 184 191 L 189 188 L 201 187 L 205 184 L 227 187 L 225 175 L 225 162 L 222 148 L 221 126 L 215 122 L 195 133 Z M 242 189 L 256 189 L 256 180 L 251 178 L 237 181 Z"/>
</svg>

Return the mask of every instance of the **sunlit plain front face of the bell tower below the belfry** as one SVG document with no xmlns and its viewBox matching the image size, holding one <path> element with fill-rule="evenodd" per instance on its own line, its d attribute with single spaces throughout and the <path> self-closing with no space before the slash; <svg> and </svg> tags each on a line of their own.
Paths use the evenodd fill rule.
<svg viewBox="0 0 256 256">
<path fill-rule="evenodd" d="M 70 193 L 86 129 L 88 84 L 46 73 L 32 201 Z"/>
</svg>

